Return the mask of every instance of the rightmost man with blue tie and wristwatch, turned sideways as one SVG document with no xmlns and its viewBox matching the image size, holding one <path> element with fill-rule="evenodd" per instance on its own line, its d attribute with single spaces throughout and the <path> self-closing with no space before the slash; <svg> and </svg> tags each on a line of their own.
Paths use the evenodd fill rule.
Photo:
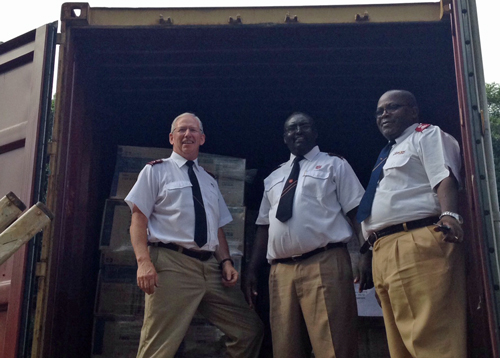
<svg viewBox="0 0 500 358">
<path fill-rule="evenodd" d="M 373 252 L 391 357 L 462 358 L 467 339 L 457 213 L 460 148 L 439 127 L 419 124 L 418 114 L 408 91 L 380 97 L 377 125 L 390 144 L 376 165 L 382 173 L 374 168 L 358 209 L 368 238 L 362 251 L 373 246 L 365 255 Z"/>
</svg>

